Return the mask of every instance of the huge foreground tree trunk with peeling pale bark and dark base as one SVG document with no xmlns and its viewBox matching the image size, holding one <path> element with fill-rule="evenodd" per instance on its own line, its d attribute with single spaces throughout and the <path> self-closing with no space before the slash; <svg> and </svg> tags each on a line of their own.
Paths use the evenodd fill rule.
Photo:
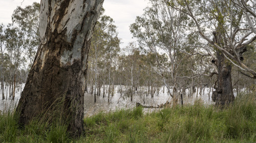
<svg viewBox="0 0 256 143">
<path fill-rule="evenodd" d="M 83 131 L 83 82 L 97 16 L 104 0 L 41 0 L 40 40 L 36 58 L 20 97 L 19 123 L 51 111 L 70 119 L 68 131 Z M 54 107 L 64 99 L 61 109 Z"/>
</svg>

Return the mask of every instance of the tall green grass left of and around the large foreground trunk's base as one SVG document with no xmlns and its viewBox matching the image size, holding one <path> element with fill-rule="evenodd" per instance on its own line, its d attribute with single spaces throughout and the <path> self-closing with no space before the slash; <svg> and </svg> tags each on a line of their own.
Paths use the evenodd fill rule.
<svg viewBox="0 0 256 143">
<path fill-rule="evenodd" d="M 70 142 L 68 126 L 55 120 L 52 123 L 32 120 L 25 127 L 17 123 L 17 114 L 10 110 L 0 115 L 0 142 Z"/>
</svg>

